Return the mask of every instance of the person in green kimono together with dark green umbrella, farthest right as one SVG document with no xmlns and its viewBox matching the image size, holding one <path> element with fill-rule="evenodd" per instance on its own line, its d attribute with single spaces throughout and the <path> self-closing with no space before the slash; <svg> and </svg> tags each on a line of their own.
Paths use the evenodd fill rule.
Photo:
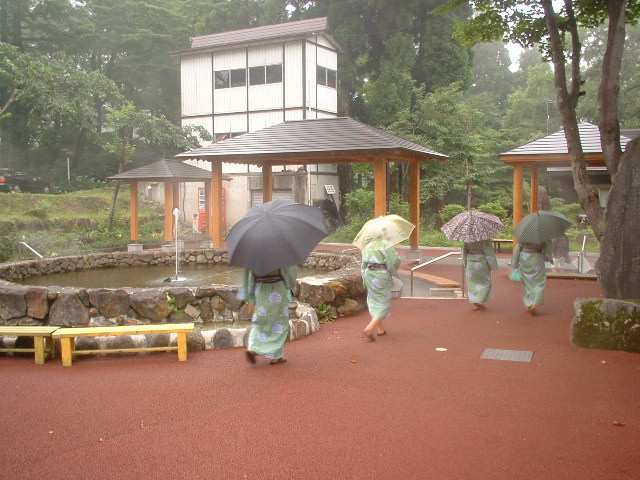
<svg viewBox="0 0 640 480">
<path fill-rule="evenodd" d="M 524 217 L 514 231 L 512 278 L 524 285 L 523 302 L 531 315 L 542 305 L 547 283 L 545 258 L 551 257 L 551 240 L 564 234 L 571 222 L 562 214 L 541 210 Z"/>
</svg>

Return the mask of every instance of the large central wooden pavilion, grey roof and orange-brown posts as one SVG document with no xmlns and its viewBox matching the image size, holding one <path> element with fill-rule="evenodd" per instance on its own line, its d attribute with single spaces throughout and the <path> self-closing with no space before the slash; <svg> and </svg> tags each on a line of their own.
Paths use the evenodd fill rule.
<svg viewBox="0 0 640 480">
<path fill-rule="evenodd" d="M 181 159 L 211 162 L 211 222 L 209 233 L 216 248 L 224 245 L 222 232 L 222 164 L 242 163 L 262 167 L 263 201 L 272 199 L 273 165 L 371 163 L 374 168 L 376 216 L 387 213 L 387 168 L 390 161 L 409 163 L 410 221 L 416 225 L 411 246 L 420 233 L 420 162 L 447 158 L 349 117 L 279 123 L 207 147 L 176 155 Z"/>
</svg>

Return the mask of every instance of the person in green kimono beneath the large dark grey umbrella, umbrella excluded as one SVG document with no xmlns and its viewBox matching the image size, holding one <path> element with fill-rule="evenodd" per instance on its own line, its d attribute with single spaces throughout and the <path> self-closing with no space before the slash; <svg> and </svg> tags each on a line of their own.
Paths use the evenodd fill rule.
<svg viewBox="0 0 640 480">
<path fill-rule="evenodd" d="M 247 344 L 247 360 L 256 363 L 256 355 L 270 359 L 270 363 L 284 363 L 284 344 L 289 337 L 289 302 L 295 287 L 297 268 L 281 268 L 267 275 L 257 276 L 245 270 L 238 298 L 255 304 L 253 322 Z"/>
</svg>

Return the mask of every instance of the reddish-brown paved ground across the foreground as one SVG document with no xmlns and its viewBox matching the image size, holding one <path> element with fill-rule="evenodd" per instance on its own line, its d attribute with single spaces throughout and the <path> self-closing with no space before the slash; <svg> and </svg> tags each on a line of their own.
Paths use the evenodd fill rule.
<svg viewBox="0 0 640 480">
<path fill-rule="evenodd" d="M 398 300 L 389 336 L 361 343 L 365 315 L 342 319 L 275 367 L 0 358 L 0 478 L 640 478 L 640 355 L 572 347 L 572 301 L 596 286 L 550 284 L 536 318 L 504 271 L 486 312 Z"/>
</svg>

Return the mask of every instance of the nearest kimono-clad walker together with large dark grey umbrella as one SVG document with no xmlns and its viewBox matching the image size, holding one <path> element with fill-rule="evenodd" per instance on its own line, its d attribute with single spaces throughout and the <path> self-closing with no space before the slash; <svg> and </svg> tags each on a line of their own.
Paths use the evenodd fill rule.
<svg viewBox="0 0 640 480">
<path fill-rule="evenodd" d="M 284 200 L 252 208 L 227 236 L 229 263 L 245 268 L 238 298 L 255 305 L 246 356 L 286 362 L 297 265 L 327 235 L 322 211 Z"/>
</svg>

